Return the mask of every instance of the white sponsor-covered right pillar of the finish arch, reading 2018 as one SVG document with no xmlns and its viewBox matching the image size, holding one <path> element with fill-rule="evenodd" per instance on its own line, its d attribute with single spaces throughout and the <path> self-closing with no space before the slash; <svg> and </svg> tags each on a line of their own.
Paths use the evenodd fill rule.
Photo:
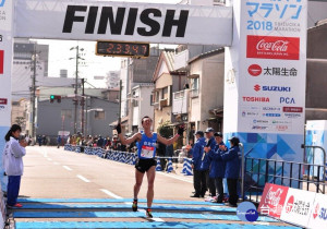
<svg viewBox="0 0 327 229">
<path fill-rule="evenodd" d="M 307 0 L 228 3 L 225 135 L 238 135 L 247 156 L 302 161 Z"/>
</svg>

